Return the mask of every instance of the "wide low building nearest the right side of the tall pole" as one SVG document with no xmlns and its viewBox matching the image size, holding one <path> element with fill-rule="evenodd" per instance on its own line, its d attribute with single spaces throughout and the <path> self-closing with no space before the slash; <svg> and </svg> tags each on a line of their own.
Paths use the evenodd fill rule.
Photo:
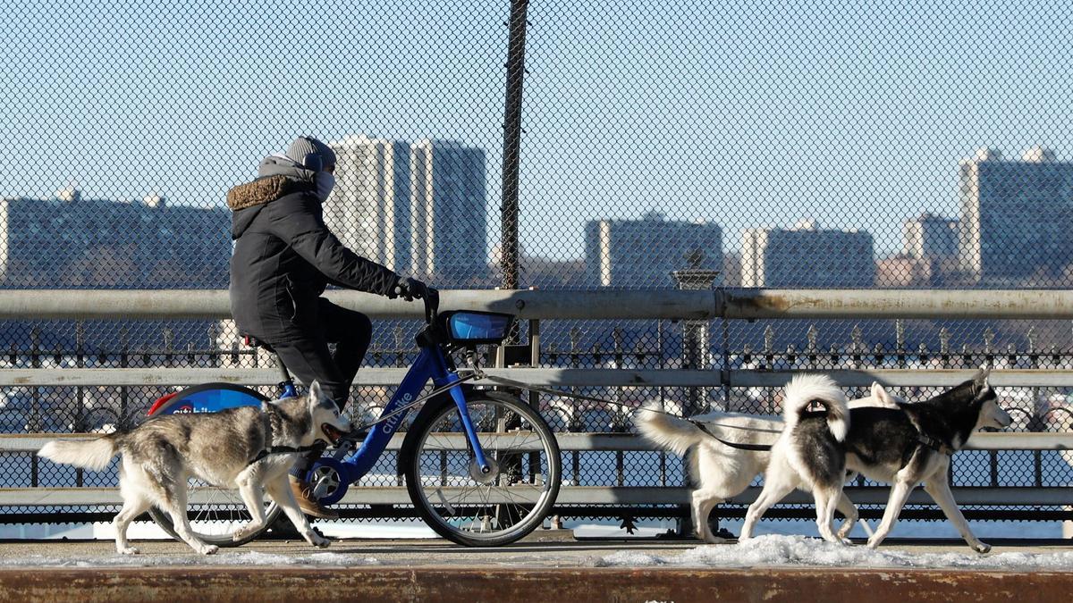
<svg viewBox="0 0 1073 603">
<path fill-rule="evenodd" d="M 590 286 L 670 288 L 673 270 L 722 270 L 722 231 L 658 211 L 640 220 L 592 220 L 585 225 L 585 260 Z"/>
</svg>

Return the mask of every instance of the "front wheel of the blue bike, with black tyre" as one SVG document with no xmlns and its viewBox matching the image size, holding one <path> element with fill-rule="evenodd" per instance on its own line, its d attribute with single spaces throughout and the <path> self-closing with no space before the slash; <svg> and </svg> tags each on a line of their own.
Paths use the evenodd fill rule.
<svg viewBox="0 0 1073 603">
<path fill-rule="evenodd" d="M 425 521 L 466 546 L 499 546 L 538 526 L 559 494 L 559 445 L 521 400 L 470 392 L 467 406 L 489 471 L 470 450 L 458 408 L 444 405 L 410 428 L 407 489 Z"/>
</svg>

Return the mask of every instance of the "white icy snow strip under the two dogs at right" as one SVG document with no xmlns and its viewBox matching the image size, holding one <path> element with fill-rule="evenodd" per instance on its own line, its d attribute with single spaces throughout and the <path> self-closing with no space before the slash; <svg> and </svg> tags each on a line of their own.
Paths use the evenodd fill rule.
<svg viewBox="0 0 1073 603">
<path fill-rule="evenodd" d="M 971 568 L 1073 570 L 1073 550 L 1063 553 L 907 553 L 873 550 L 862 545 L 840 546 L 800 535 L 767 534 L 744 543 L 699 546 L 681 555 L 663 556 L 622 550 L 597 560 L 607 567 L 825 565 L 836 568 Z"/>
</svg>

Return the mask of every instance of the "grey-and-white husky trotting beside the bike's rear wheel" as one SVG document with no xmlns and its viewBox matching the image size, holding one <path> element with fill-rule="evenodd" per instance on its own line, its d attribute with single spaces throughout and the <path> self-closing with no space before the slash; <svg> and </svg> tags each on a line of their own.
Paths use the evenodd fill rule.
<svg viewBox="0 0 1073 603">
<path fill-rule="evenodd" d="M 306 541 L 323 548 L 329 541 L 310 528 L 288 481 L 288 471 L 299 454 L 269 448 L 297 448 L 317 440 L 336 443 L 350 429 L 350 422 L 339 415 L 335 402 L 314 381 L 306 397 L 265 402 L 260 409 L 240 407 L 216 413 L 158 416 L 130 431 L 88 441 L 55 440 L 42 446 L 38 455 L 93 471 L 103 470 L 113 457 L 122 455 L 119 492 L 123 508 L 112 523 L 116 550 L 123 555 L 138 553 L 127 543 L 127 527 L 152 505 L 172 516 L 175 531 L 194 550 L 202 555 L 217 551 L 216 546 L 202 542 L 190 529 L 190 476 L 215 486 L 238 488 L 252 521 L 235 532 L 235 540 L 261 529 L 265 520 L 263 488 Z"/>
</svg>

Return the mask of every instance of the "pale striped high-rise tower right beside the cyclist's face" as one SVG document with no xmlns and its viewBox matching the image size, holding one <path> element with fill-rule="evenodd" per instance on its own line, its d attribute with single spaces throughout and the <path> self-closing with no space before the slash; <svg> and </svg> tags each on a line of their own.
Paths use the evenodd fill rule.
<svg viewBox="0 0 1073 603">
<path fill-rule="evenodd" d="M 324 203 L 324 223 L 359 255 L 409 270 L 410 145 L 354 135 L 330 146 L 336 187 Z"/>
</svg>

